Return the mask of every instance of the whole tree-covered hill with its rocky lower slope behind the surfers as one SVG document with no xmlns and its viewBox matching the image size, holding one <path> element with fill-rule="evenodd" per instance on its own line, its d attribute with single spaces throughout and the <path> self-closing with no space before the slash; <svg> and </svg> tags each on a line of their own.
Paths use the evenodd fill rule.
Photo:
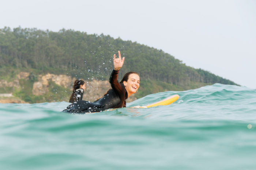
<svg viewBox="0 0 256 170">
<path fill-rule="evenodd" d="M 5 27 L 0 29 L 0 93 L 12 93 L 28 103 L 68 102 L 72 81 L 80 78 L 91 87 L 84 93 L 84 100 L 93 100 L 108 90 L 112 56 L 118 50 L 126 62 L 120 77 L 128 71 L 140 74 L 140 89 L 132 100 L 214 83 L 238 85 L 208 71 L 186 66 L 162 50 L 109 35 Z M 66 79 L 61 84 L 58 78 Z M 41 93 L 36 94 L 35 88 L 41 89 Z"/>
</svg>

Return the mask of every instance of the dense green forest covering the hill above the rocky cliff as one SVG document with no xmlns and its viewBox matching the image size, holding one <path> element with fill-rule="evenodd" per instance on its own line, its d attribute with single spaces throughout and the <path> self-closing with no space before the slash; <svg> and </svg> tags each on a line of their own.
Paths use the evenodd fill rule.
<svg viewBox="0 0 256 170">
<path fill-rule="evenodd" d="M 0 67 L 33 68 L 41 71 L 108 79 L 113 54 L 120 50 L 125 63 L 120 74 L 139 72 L 143 80 L 188 86 L 192 82 L 235 84 L 208 71 L 186 66 L 170 54 L 109 35 L 62 29 L 0 29 Z"/>
</svg>

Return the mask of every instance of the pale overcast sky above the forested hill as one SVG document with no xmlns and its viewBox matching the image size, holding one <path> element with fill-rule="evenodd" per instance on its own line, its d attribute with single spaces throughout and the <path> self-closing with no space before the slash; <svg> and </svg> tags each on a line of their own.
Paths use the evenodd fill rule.
<svg viewBox="0 0 256 170">
<path fill-rule="evenodd" d="M 5 26 L 137 41 L 256 88 L 255 0 L 0 0 Z"/>
</svg>

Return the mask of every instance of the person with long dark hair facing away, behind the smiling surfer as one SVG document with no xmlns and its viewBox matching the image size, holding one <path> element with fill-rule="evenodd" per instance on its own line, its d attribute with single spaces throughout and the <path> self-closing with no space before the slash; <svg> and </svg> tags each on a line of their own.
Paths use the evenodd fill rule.
<svg viewBox="0 0 256 170">
<path fill-rule="evenodd" d="M 69 99 L 69 103 L 78 102 L 83 99 L 83 92 L 86 89 L 84 80 L 75 80 L 73 86 L 73 93 Z"/>
</svg>

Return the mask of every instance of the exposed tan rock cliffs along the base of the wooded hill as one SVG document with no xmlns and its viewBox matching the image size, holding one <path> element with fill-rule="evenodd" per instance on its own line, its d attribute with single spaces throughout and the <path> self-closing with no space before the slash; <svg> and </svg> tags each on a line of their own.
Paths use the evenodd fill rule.
<svg viewBox="0 0 256 170">
<path fill-rule="evenodd" d="M 24 82 L 30 81 L 30 75 L 29 72 L 20 72 L 16 75 L 16 78 L 11 81 L 7 82 L 6 80 L 0 81 L 0 88 L 4 89 L 12 89 L 10 91 L 5 91 L 4 93 L 12 93 L 14 91 L 22 91 L 25 88 L 29 89 L 30 95 L 34 97 L 41 97 L 42 100 L 40 102 L 56 102 L 56 101 L 66 101 L 68 102 L 69 96 L 72 94 L 72 86 L 75 81 L 75 78 L 72 78 L 67 75 L 54 75 L 54 74 L 46 74 L 46 75 L 37 75 L 37 80 L 33 82 L 31 86 L 33 87 L 25 87 L 27 86 Z M 22 80 L 22 81 L 21 81 Z M 23 83 L 20 83 L 23 82 Z M 50 86 L 51 83 L 54 83 L 55 86 Z M 8 87 L 8 88 L 7 88 Z M 56 87 L 61 87 L 61 89 L 64 90 L 57 90 L 52 89 Z M 103 96 L 106 91 L 109 90 L 110 84 L 107 80 L 101 81 L 101 80 L 92 80 L 92 81 L 86 81 L 86 90 L 84 91 L 83 100 L 89 100 L 94 101 L 97 98 Z M 18 89 L 18 90 L 17 90 Z M 56 90 L 56 94 L 59 93 L 59 99 L 55 100 L 49 100 L 50 91 Z M 64 94 L 65 93 L 65 94 Z M 18 93 L 19 94 L 19 93 Z M 15 95 L 15 93 L 14 93 Z M 63 97 L 66 96 L 66 97 Z M 16 98 L 13 97 L 2 97 L 0 98 L 0 103 L 26 103 L 23 100 L 17 98 L 19 95 L 16 95 Z M 132 102 L 135 100 L 135 96 L 132 95 L 127 99 L 127 103 Z"/>
</svg>

